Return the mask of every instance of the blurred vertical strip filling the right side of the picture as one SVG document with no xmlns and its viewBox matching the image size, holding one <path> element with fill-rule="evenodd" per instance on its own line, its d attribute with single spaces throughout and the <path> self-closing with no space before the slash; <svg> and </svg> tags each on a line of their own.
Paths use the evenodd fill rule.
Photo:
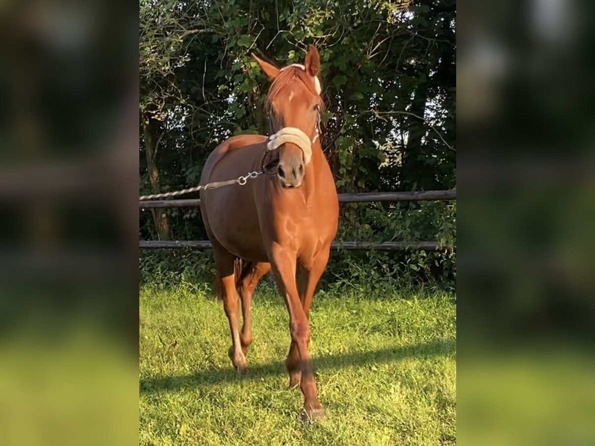
<svg viewBox="0 0 595 446">
<path fill-rule="evenodd" d="M 593 444 L 593 5 L 458 11 L 458 440 Z"/>
</svg>

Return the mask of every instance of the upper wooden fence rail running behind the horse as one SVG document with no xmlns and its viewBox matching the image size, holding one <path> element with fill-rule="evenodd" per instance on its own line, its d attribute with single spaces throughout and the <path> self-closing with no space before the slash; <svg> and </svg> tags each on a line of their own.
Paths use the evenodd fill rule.
<svg viewBox="0 0 595 446">
<path fill-rule="evenodd" d="M 456 189 L 424 190 L 415 192 L 364 192 L 356 194 L 339 194 L 339 203 L 367 202 L 421 202 L 456 200 Z M 201 205 L 200 199 L 186 200 L 146 200 L 139 202 L 139 208 L 196 208 Z"/>
</svg>

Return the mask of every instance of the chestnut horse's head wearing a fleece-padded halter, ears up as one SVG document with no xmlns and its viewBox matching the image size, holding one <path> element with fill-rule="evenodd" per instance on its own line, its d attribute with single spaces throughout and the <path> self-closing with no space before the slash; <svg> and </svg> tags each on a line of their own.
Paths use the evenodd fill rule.
<svg viewBox="0 0 595 446">
<path fill-rule="evenodd" d="M 252 55 L 273 81 L 267 98 L 271 122 L 268 149 L 279 150 L 277 176 L 283 187 L 299 187 L 305 165 L 311 161 L 312 145 L 318 139 L 322 98 L 320 55 L 310 45 L 303 65 L 277 68 Z"/>
</svg>

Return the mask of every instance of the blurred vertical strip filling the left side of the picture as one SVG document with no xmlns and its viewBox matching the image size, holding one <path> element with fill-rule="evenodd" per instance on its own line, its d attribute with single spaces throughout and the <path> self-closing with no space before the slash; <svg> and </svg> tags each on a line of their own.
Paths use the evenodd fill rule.
<svg viewBox="0 0 595 446">
<path fill-rule="evenodd" d="M 0 6 L 0 443 L 137 438 L 137 10 Z"/>
</svg>

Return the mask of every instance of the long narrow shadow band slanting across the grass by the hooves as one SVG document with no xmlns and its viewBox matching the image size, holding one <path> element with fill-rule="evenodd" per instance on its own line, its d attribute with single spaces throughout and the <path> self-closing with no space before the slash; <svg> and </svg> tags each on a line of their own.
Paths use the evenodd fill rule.
<svg viewBox="0 0 595 446">
<path fill-rule="evenodd" d="M 447 356 L 456 350 L 456 340 L 440 340 L 415 346 L 384 348 L 375 351 L 362 351 L 339 355 L 325 355 L 314 357 L 314 370 L 340 369 L 350 366 L 377 365 L 380 363 L 396 362 L 405 358 L 424 359 L 429 357 Z M 286 374 L 284 360 L 268 364 L 253 365 L 248 363 L 248 373 L 241 379 L 260 379 L 271 375 Z M 201 385 L 220 384 L 221 382 L 237 381 L 240 375 L 236 369 L 205 369 L 181 376 L 163 376 L 140 379 L 139 391 L 148 394 L 160 391 L 176 391 L 182 388 L 192 388 Z"/>
</svg>

